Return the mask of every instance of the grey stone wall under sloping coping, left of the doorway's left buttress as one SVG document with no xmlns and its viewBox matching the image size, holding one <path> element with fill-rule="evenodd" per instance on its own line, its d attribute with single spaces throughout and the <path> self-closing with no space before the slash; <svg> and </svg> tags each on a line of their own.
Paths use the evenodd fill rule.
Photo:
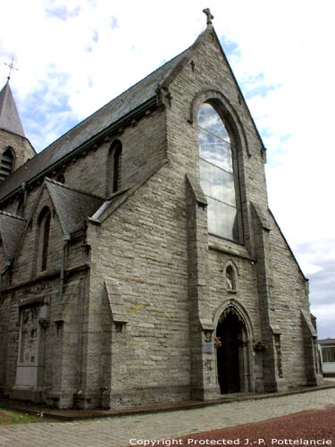
<svg viewBox="0 0 335 447">
<path fill-rule="evenodd" d="M 175 188 L 171 170 L 163 167 L 101 226 L 88 230 L 91 331 L 101 325 L 96 312 L 106 279 L 113 283 L 111 300 L 121 297 L 128 318 L 121 333 L 113 326 L 112 383 L 105 384 L 113 407 L 189 396 L 185 207 Z M 90 362 L 98 368 L 99 341 L 91 342 Z"/>
</svg>

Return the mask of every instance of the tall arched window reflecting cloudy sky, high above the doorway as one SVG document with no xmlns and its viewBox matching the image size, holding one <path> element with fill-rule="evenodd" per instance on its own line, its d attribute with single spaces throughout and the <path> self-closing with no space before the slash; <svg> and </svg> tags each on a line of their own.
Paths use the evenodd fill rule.
<svg viewBox="0 0 335 447">
<path fill-rule="evenodd" d="M 208 232 L 243 242 L 236 149 L 220 114 L 209 103 L 197 115 L 200 183 L 208 202 Z"/>
</svg>

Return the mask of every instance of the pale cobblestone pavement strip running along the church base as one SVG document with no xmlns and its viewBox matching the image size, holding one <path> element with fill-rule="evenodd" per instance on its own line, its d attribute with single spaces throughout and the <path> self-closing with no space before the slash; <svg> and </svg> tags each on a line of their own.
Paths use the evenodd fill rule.
<svg viewBox="0 0 335 447">
<path fill-rule="evenodd" d="M 335 404 L 335 388 L 201 409 L 174 410 L 76 422 L 0 426 L 1 447 L 126 447 L 141 440 L 171 438 L 236 426 Z M 142 443 L 143 445 L 143 443 Z"/>
</svg>

